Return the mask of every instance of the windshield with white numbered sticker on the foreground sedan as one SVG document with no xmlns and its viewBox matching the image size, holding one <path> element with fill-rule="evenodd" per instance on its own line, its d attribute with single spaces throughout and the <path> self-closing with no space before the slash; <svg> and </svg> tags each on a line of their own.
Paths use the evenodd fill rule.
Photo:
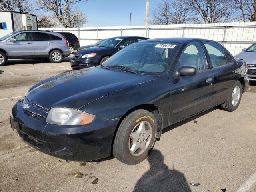
<svg viewBox="0 0 256 192">
<path fill-rule="evenodd" d="M 143 74 L 162 73 L 174 58 L 178 45 L 172 42 L 137 42 L 120 50 L 102 65 Z"/>
</svg>

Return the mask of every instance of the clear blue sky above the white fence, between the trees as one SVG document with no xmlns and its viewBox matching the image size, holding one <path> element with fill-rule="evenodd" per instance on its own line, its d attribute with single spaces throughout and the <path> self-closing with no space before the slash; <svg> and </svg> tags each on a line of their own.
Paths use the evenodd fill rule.
<svg viewBox="0 0 256 192">
<path fill-rule="evenodd" d="M 150 9 L 162 0 L 150 0 Z M 138 26 L 145 24 L 146 0 L 88 0 L 76 3 L 87 16 L 84 27 Z"/>
</svg>

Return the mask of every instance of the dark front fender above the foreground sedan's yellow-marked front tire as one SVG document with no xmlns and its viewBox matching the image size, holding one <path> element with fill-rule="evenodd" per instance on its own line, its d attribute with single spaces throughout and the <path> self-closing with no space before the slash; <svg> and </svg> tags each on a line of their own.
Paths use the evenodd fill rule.
<svg viewBox="0 0 256 192">
<path fill-rule="evenodd" d="M 167 122 L 170 106 L 170 84 L 167 75 L 116 90 L 80 110 L 112 120 L 121 118 L 130 109 L 142 104 L 154 104 L 163 114 L 163 123 Z"/>
</svg>

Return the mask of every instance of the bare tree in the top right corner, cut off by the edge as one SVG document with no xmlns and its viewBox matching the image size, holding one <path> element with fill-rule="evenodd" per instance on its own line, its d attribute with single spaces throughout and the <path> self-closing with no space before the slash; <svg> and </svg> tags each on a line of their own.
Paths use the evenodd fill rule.
<svg viewBox="0 0 256 192">
<path fill-rule="evenodd" d="M 236 0 L 236 5 L 244 22 L 256 21 L 256 0 Z"/>
</svg>

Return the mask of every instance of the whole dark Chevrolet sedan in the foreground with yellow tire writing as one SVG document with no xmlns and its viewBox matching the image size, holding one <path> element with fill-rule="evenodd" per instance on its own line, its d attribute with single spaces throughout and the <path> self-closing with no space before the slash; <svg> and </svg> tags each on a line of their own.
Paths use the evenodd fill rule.
<svg viewBox="0 0 256 192">
<path fill-rule="evenodd" d="M 74 161 L 113 154 L 134 165 L 163 128 L 217 105 L 234 111 L 248 86 L 245 63 L 217 42 L 144 40 L 103 65 L 32 86 L 10 121 L 24 142 L 46 154 Z"/>
</svg>

